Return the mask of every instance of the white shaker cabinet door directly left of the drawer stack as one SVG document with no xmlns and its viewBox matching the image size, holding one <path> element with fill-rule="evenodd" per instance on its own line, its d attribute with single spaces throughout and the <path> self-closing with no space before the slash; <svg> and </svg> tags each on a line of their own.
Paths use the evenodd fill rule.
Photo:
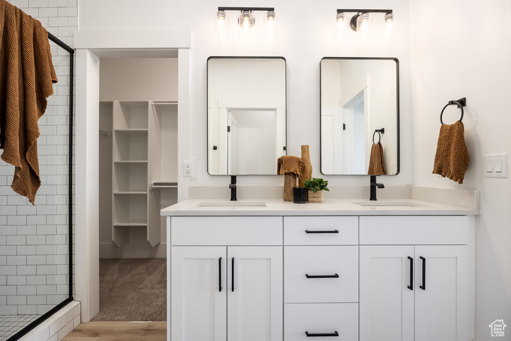
<svg viewBox="0 0 511 341">
<path fill-rule="evenodd" d="M 282 340 L 282 252 L 282 246 L 227 247 L 229 341 Z"/>
</svg>

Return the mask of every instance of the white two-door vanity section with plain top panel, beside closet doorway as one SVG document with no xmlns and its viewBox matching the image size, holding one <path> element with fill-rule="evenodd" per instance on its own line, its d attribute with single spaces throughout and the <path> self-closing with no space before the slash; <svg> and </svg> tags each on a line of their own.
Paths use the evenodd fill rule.
<svg viewBox="0 0 511 341">
<path fill-rule="evenodd" d="M 282 217 L 172 217 L 171 244 L 172 340 L 282 340 Z"/>
</svg>

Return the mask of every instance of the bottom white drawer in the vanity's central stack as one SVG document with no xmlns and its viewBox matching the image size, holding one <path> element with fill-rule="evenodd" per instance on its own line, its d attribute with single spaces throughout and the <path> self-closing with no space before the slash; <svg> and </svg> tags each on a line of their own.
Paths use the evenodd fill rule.
<svg viewBox="0 0 511 341">
<path fill-rule="evenodd" d="M 358 303 L 285 304 L 284 341 L 310 341 L 305 332 L 337 332 L 339 340 L 358 341 Z"/>
</svg>

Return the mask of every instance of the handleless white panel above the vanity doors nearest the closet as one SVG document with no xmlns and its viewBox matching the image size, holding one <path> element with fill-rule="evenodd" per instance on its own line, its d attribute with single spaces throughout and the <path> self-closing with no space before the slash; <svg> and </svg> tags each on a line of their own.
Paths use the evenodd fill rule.
<svg viewBox="0 0 511 341">
<path fill-rule="evenodd" d="M 282 217 L 171 217 L 172 245 L 282 245 Z"/>
</svg>

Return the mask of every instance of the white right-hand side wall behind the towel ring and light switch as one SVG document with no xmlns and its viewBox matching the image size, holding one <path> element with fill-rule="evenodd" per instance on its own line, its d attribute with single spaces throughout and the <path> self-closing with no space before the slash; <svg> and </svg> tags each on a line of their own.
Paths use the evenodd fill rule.
<svg viewBox="0 0 511 341">
<path fill-rule="evenodd" d="M 492 322 L 511 322 L 511 178 L 483 178 L 483 154 L 511 151 L 509 1 L 410 4 L 415 185 L 481 191 L 476 339 L 490 340 Z M 462 122 L 471 160 L 459 185 L 431 172 L 440 111 L 449 100 L 461 97 L 467 98 Z M 452 106 L 443 121 L 454 123 L 459 115 Z M 506 330 L 506 336 L 511 339 L 511 331 Z"/>
</svg>

